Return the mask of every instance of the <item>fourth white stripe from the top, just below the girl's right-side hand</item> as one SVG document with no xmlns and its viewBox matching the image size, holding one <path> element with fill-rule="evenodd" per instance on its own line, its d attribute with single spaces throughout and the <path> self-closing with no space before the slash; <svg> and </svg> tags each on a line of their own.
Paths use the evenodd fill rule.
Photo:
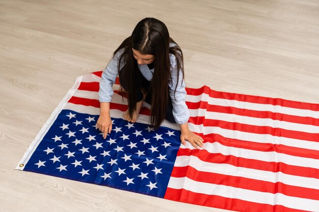
<svg viewBox="0 0 319 212">
<path fill-rule="evenodd" d="M 187 145 L 181 145 L 180 148 L 195 149 L 189 142 Z M 201 149 L 207 150 L 208 153 L 221 153 L 225 156 L 231 155 L 239 158 L 253 159 L 266 162 L 282 162 L 293 166 L 302 166 L 319 169 L 319 160 L 312 158 L 303 158 L 297 156 L 290 156 L 277 152 L 261 152 L 257 150 L 237 148 L 232 146 L 225 146 L 221 143 L 204 143 Z"/>
</svg>

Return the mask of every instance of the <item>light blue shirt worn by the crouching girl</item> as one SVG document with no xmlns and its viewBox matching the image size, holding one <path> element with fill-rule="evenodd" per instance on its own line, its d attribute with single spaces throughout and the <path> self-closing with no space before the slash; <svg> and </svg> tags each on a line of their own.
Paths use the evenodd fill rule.
<svg viewBox="0 0 319 212">
<path fill-rule="evenodd" d="M 112 85 L 115 83 L 116 77 L 118 75 L 118 60 L 124 49 L 119 50 L 114 57 L 110 60 L 108 66 L 104 69 L 102 73 L 102 78 L 100 81 L 100 89 L 98 92 L 100 102 L 111 102 L 112 96 L 114 94 Z M 190 113 L 188 107 L 185 103 L 185 82 L 182 79 L 181 70 L 177 70 L 177 62 L 175 55 L 170 54 L 171 62 L 171 75 L 172 79 L 169 81 L 169 94 L 172 99 L 173 105 L 173 116 L 177 124 L 185 124 L 188 122 Z M 121 65 L 123 66 L 123 64 Z M 154 69 L 149 69 L 147 65 L 139 65 L 138 67 L 143 74 L 143 76 L 151 81 L 154 73 Z M 122 68 L 122 67 L 121 67 Z M 179 80 L 177 83 L 177 71 L 179 71 Z M 176 93 L 174 96 L 176 87 Z"/>
</svg>

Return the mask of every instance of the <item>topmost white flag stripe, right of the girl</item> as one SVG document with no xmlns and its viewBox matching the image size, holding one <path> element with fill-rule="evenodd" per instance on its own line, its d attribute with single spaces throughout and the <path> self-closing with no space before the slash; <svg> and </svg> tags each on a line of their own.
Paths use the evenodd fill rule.
<svg viewBox="0 0 319 212">
<path fill-rule="evenodd" d="M 271 111 L 271 112 L 283 113 L 288 115 L 298 115 L 303 117 L 319 118 L 319 111 L 282 107 L 279 105 L 259 104 L 259 103 L 242 102 L 237 100 L 212 98 L 212 97 L 209 97 L 209 95 L 207 94 L 202 94 L 199 96 L 187 95 L 185 100 L 188 102 L 204 101 L 204 102 L 208 102 L 208 104 L 210 105 L 236 107 L 236 108 L 257 110 L 257 111 Z"/>
</svg>

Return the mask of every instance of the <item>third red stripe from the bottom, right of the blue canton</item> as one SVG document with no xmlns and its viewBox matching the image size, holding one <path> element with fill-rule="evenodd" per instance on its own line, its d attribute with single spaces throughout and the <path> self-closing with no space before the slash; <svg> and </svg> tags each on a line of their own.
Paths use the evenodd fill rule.
<svg viewBox="0 0 319 212">
<path fill-rule="evenodd" d="M 282 162 L 267 162 L 256 159 L 247 159 L 232 155 L 225 156 L 220 153 L 209 153 L 206 149 L 180 148 L 177 156 L 195 156 L 201 161 L 217 164 L 229 164 L 236 167 L 257 169 L 262 171 L 282 172 L 284 174 L 313 177 L 319 179 L 318 169 L 302 166 L 288 165 Z"/>
</svg>

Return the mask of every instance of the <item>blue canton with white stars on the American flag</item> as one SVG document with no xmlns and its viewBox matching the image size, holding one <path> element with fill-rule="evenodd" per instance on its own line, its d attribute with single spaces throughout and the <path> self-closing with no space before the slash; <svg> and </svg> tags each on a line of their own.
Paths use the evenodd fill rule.
<svg viewBox="0 0 319 212">
<path fill-rule="evenodd" d="M 24 170 L 164 197 L 180 131 L 112 118 L 103 139 L 97 119 L 62 110 Z"/>
</svg>

